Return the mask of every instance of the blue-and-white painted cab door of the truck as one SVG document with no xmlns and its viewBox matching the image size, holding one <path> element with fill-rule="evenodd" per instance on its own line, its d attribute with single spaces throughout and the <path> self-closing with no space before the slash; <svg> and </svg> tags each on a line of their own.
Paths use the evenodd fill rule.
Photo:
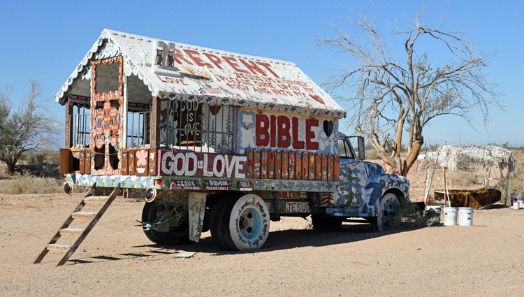
<svg viewBox="0 0 524 297">
<path fill-rule="evenodd" d="M 367 172 L 365 164 L 358 161 L 347 138 L 339 138 L 340 180 L 335 205 L 358 208 L 364 203 Z"/>
</svg>

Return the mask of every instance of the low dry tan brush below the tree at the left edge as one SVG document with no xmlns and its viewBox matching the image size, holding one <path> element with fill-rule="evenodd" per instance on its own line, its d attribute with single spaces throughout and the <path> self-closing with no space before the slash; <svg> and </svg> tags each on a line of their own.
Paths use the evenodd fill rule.
<svg viewBox="0 0 524 297">
<path fill-rule="evenodd" d="M 0 180 L 0 193 L 8 195 L 58 193 L 61 188 L 61 180 L 38 178 L 28 173 Z"/>
</svg>

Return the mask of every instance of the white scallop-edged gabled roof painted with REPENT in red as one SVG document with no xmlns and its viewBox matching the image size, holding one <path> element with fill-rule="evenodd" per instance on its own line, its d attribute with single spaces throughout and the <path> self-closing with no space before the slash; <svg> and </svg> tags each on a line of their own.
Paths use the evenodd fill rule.
<svg viewBox="0 0 524 297">
<path fill-rule="evenodd" d="M 102 31 L 57 93 L 56 101 L 64 104 L 68 94 L 89 96 L 89 61 L 114 55 L 124 56 L 125 75 L 136 75 L 152 96 L 161 99 L 345 117 L 345 111 L 291 62 L 110 29 Z"/>
</svg>

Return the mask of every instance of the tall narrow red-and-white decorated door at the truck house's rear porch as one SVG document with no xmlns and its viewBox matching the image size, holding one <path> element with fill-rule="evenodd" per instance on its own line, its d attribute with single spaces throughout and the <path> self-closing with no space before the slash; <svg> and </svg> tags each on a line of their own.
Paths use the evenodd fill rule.
<svg viewBox="0 0 524 297">
<path fill-rule="evenodd" d="M 115 175 L 122 168 L 122 56 L 91 62 L 92 175 Z"/>
</svg>

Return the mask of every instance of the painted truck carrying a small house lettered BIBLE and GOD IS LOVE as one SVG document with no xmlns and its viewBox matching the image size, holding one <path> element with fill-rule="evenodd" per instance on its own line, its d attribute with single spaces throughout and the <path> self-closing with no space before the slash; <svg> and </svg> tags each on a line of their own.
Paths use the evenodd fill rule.
<svg viewBox="0 0 524 297">
<path fill-rule="evenodd" d="M 220 249 L 259 249 L 286 216 L 382 231 L 408 200 L 407 178 L 363 161 L 363 138 L 339 131 L 346 111 L 289 61 L 104 29 L 56 101 L 66 194 L 144 198 L 161 245 L 210 231 Z"/>
</svg>

